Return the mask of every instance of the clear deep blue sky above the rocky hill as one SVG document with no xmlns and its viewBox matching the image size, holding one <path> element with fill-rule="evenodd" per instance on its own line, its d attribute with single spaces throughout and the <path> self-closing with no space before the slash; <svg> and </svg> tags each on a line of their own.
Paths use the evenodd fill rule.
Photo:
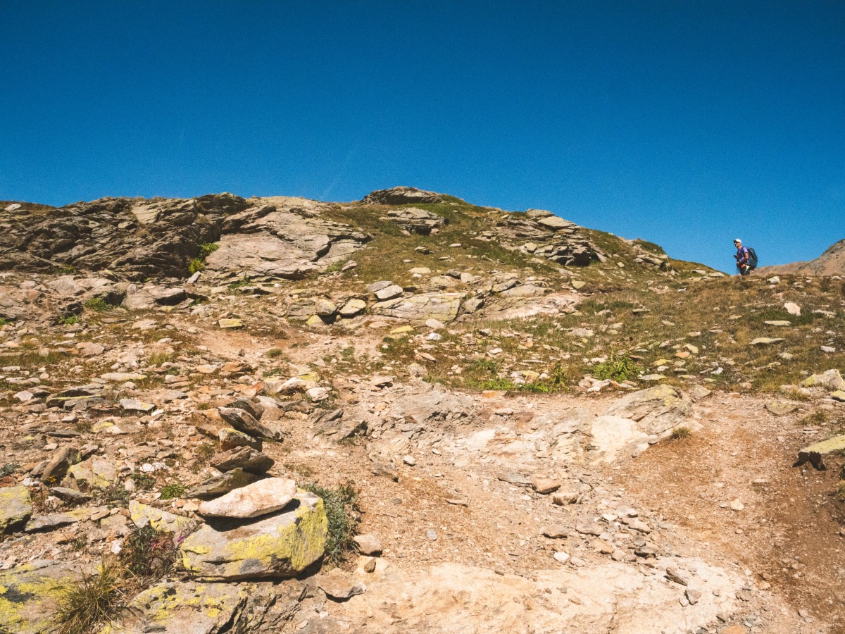
<svg viewBox="0 0 845 634">
<path fill-rule="evenodd" d="M 399 184 L 733 269 L 845 238 L 845 3 L 0 2 L 0 199 Z"/>
</svg>

